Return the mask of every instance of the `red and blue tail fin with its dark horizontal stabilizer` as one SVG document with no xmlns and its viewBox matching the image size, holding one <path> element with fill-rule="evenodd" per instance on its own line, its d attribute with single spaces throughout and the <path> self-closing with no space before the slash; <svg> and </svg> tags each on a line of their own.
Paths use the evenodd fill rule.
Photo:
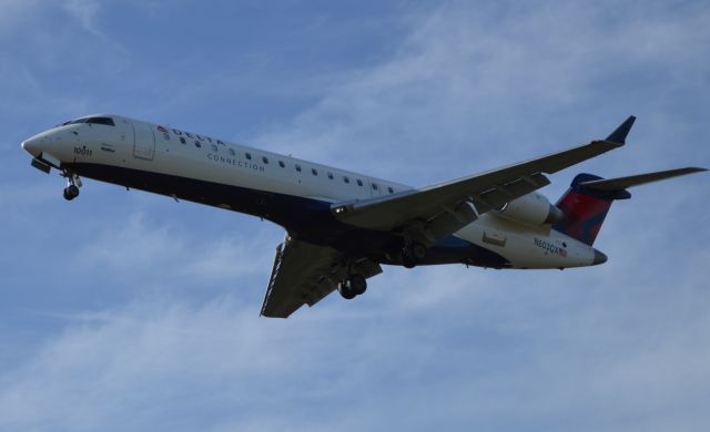
<svg viewBox="0 0 710 432">
<path fill-rule="evenodd" d="M 611 203 L 615 199 L 631 197 L 631 194 L 626 191 L 627 187 L 701 171 L 706 169 L 688 167 L 609 179 L 591 174 L 579 174 L 556 204 L 562 210 L 565 218 L 552 228 L 591 246 L 601 229 Z"/>
</svg>

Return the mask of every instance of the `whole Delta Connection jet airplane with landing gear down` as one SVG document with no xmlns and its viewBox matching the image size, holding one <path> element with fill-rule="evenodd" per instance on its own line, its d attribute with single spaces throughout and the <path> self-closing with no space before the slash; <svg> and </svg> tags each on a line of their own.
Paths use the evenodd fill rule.
<svg viewBox="0 0 710 432">
<path fill-rule="evenodd" d="M 608 178 L 579 174 L 552 205 L 549 174 L 625 145 L 636 117 L 609 136 L 425 187 L 375 178 L 120 115 L 83 116 L 24 141 L 31 165 L 215 206 L 286 230 L 261 316 L 287 318 L 336 289 L 365 292 L 383 265 L 464 264 L 496 269 L 596 266 L 595 239 L 630 187 L 707 171 L 686 167 Z"/>
</svg>

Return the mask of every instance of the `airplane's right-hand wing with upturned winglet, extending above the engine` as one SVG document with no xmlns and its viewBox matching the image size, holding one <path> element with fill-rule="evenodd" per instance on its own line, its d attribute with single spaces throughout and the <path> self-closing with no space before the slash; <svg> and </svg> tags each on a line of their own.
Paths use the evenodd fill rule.
<svg viewBox="0 0 710 432">
<path fill-rule="evenodd" d="M 336 203 L 332 210 L 339 220 L 362 228 L 388 232 L 417 226 L 434 243 L 469 224 L 477 214 L 548 185 L 542 173 L 557 173 L 622 146 L 635 120 L 630 116 L 602 141 L 420 189 Z"/>
</svg>

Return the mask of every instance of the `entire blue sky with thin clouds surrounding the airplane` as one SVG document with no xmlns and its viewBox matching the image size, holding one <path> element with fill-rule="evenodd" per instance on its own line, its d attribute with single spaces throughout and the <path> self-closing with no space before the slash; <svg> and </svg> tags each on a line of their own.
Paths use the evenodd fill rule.
<svg viewBox="0 0 710 432">
<path fill-rule="evenodd" d="M 267 6 L 265 6 L 267 4 Z M 258 317 L 283 229 L 30 167 L 115 113 L 425 186 L 710 167 L 707 1 L 0 0 L 0 430 L 704 431 L 710 176 L 632 191 L 602 266 L 386 267 Z"/>
</svg>

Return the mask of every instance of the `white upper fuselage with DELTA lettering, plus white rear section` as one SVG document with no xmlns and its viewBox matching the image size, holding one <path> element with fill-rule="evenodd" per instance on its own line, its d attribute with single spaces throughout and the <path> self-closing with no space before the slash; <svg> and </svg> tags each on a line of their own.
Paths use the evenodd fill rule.
<svg viewBox="0 0 710 432">
<path fill-rule="evenodd" d="M 62 164 L 128 168 L 325 203 L 412 188 L 182 130 L 116 115 L 106 117 L 113 120 L 113 126 L 65 124 L 33 136 L 23 147 L 36 157 L 42 153 Z M 162 189 L 160 193 L 170 194 Z M 229 203 L 213 205 L 234 209 Z M 505 257 L 511 268 L 580 267 L 595 260 L 591 246 L 550 229 L 549 225 L 529 226 L 496 213 L 479 215 L 455 236 Z"/>
</svg>

